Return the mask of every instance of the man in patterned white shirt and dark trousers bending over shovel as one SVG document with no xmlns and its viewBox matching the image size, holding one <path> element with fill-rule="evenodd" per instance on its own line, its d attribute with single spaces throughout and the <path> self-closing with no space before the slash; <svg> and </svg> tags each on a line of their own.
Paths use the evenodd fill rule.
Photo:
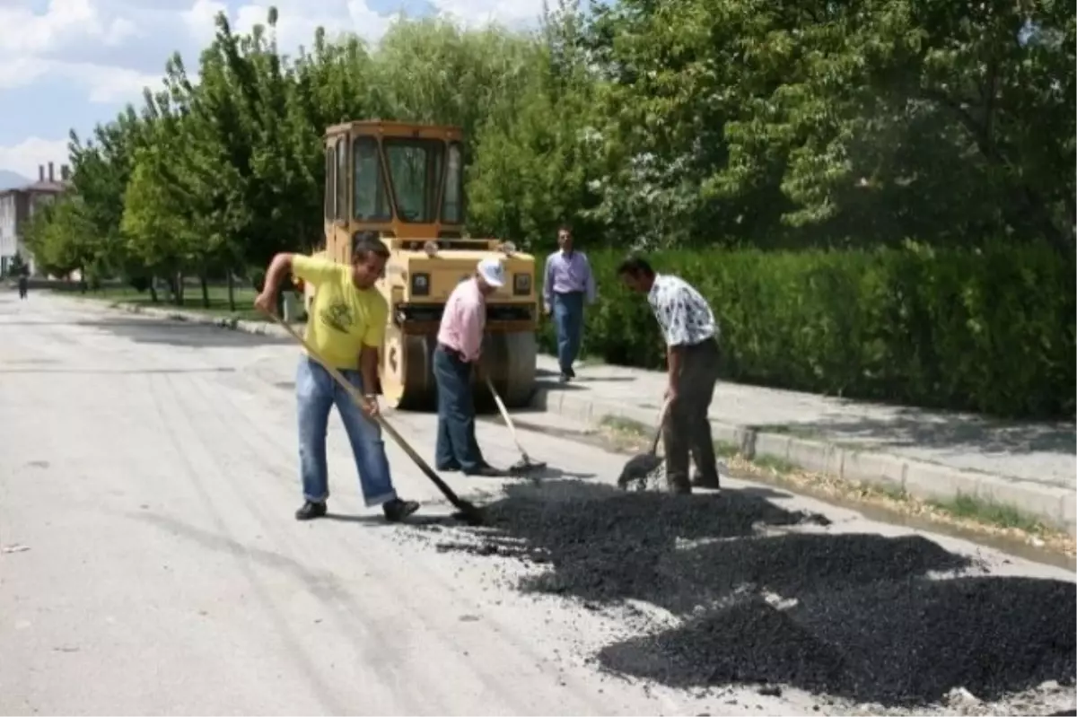
<svg viewBox="0 0 1077 717">
<path fill-rule="evenodd" d="M 647 295 L 666 339 L 669 411 L 662 424 L 666 479 L 674 493 L 690 493 L 688 455 L 699 470 L 695 483 L 718 488 L 718 466 L 708 410 L 718 379 L 718 327 L 707 299 L 680 277 L 655 273 L 646 259 L 630 257 L 617 276 Z"/>
</svg>

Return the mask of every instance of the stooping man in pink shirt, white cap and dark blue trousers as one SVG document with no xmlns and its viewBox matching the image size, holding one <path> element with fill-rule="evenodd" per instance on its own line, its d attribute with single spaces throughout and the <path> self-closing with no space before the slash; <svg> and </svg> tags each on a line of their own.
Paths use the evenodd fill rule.
<svg viewBox="0 0 1077 717">
<path fill-rule="evenodd" d="M 482 353 L 486 297 L 505 285 L 505 268 L 495 258 L 478 263 L 475 276 L 461 281 L 445 303 L 434 350 L 437 381 L 437 469 L 468 476 L 503 476 L 482 459 L 475 439 L 472 367 Z"/>
</svg>

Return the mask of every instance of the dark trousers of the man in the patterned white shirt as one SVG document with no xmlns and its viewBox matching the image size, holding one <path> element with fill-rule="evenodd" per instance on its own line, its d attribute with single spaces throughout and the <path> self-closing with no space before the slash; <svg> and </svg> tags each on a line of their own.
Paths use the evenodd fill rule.
<svg viewBox="0 0 1077 717">
<path fill-rule="evenodd" d="M 676 381 L 676 399 L 669 408 L 662 428 L 666 444 L 666 479 L 670 490 L 688 492 L 688 458 L 699 469 L 703 483 L 718 482 L 714 439 L 707 413 L 718 380 L 718 345 L 714 339 L 688 347 Z"/>
</svg>

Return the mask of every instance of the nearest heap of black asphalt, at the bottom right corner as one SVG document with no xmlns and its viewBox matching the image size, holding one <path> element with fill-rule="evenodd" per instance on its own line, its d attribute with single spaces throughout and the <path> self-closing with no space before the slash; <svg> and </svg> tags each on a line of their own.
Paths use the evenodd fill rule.
<svg viewBox="0 0 1077 717">
<path fill-rule="evenodd" d="M 961 687 L 994 701 L 1077 678 L 1077 586 L 912 579 L 817 592 L 786 610 L 751 600 L 606 647 L 599 661 L 677 687 L 778 683 L 887 706 Z"/>
</svg>

